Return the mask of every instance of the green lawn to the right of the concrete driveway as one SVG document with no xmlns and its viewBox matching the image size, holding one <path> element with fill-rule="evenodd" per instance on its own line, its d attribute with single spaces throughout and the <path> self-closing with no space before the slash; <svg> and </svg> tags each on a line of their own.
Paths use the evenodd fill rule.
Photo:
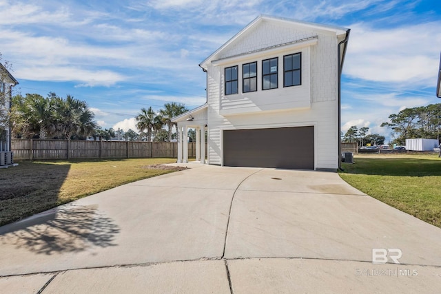
<svg viewBox="0 0 441 294">
<path fill-rule="evenodd" d="M 441 228 L 438 155 L 359 155 L 340 177 L 369 196 Z"/>
</svg>

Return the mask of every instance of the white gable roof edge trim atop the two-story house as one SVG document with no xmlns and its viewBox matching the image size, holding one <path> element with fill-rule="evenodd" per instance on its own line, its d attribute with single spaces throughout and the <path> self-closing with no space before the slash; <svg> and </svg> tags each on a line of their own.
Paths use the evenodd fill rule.
<svg viewBox="0 0 441 294">
<path fill-rule="evenodd" d="M 327 31 L 327 32 L 332 32 L 332 33 L 335 33 L 337 36 L 347 34 L 348 31 L 349 31 L 349 29 L 347 29 L 347 28 L 342 28 L 342 27 L 338 27 L 338 26 L 334 26 L 334 25 L 322 25 L 320 23 L 311 23 L 311 22 L 308 22 L 308 21 L 298 21 L 296 19 L 287 19 L 287 18 L 283 18 L 283 17 L 272 17 L 272 16 L 269 16 L 269 15 L 261 14 L 259 17 L 256 17 L 256 19 L 254 19 L 254 21 L 249 23 L 245 28 L 240 30 L 240 32 L 235 34 L 225 44 L 220 46 L 220 48 L 218 48 L 218 50 L 213 52 L 204 61 L 202 61 L 199 64 L 199 66 L 202 67 L 204 70 L 206 70 L 207 69 L 207 63 L 212 61 L 219 52 L 225 50 L 225 48 L 227 48 L 230 44 L 234 43 L 234 41 L 236 41 L 238 38 L 240 38 L 240 36 L 243 36 L 246 32 L 248 32 L 249 30 L 254 28 L 259 23 L 262 23 L 263 21 L 272 21 L 272 22 L 279 22 L 279 23 L 289 23 L 289 24 L 301 25 L 301 26 L 303 26 L 305 28 L 310 28 L 310 29 L 314 29 L 314 30 L 324 30 L 324 31 Z M 300 41 L 302 41 L 302 40 L 300 40 Z M 341 62 L 343 63 L 343 60 Z"/>
</svg>

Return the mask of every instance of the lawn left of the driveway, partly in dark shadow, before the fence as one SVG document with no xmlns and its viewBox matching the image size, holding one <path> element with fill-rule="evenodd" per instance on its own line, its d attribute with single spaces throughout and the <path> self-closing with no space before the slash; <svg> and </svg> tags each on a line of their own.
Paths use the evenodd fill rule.
<svg viewBox="0 0 441 294">
<path fill-rule="evenodd" d="M 85 196 L 171 169 L 151 165 L 174 158 L 118 160 L 22 161 L 0 169 L 0 225 L 20 220 Z"/>
</svg>

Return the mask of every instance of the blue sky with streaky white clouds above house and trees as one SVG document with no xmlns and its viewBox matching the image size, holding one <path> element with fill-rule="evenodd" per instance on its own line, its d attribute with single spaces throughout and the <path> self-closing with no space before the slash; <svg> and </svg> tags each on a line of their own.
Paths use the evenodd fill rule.
<svg viewBox="0 0 441 294">
<path fill-rule="evenodd" d="M 380 127 L 389 114 L 441 103 L 438 0 L 0 0 L 0 52 L 16 91 L 72 94 L 102 127 L 127 130 L 141 107 L 205 103 L 198 64 L 259 14 L 351 28 L 344 132 L 389 138 Z"/>
</svg>

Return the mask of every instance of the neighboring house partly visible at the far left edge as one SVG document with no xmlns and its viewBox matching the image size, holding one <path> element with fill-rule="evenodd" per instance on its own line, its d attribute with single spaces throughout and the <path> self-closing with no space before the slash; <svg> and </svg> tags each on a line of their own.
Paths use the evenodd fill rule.
<svg viewBox="0 0 441 294">
<path fill-rule="evenodd" d="M 0 63 L 0 167 L 12 165 L 14 159 L 11 151 L 11 130 L 8 112 L 11 108 L 12 87 L 19 82 Z"/>
</svg>

